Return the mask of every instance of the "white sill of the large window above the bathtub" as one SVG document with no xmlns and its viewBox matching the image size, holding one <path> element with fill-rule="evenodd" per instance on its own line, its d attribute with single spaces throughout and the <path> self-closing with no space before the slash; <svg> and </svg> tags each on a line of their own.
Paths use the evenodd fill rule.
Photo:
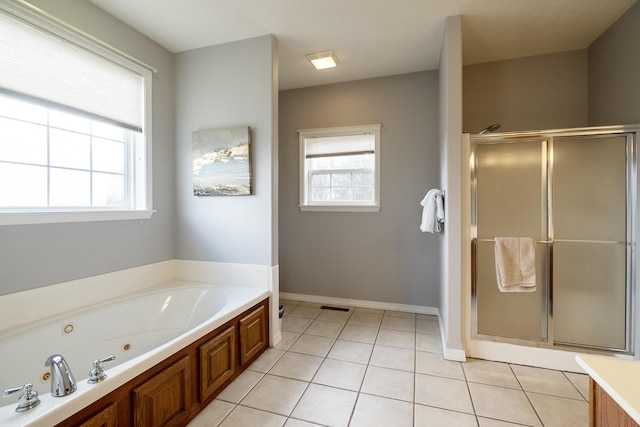
<svg viewBox="0 0 640 427">
<path fill-rule="evenodd" d="M 136 211 L 0 211 L 0 225 L 54 224 L 61 222 L 91 222 L 149 219 L 155 210 Z"/>
</svg>

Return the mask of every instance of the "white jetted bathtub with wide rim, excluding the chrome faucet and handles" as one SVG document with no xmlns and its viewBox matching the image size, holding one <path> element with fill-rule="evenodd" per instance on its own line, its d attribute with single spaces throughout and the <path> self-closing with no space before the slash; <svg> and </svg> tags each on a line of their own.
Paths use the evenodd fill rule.
<svg viewBox="0 0 640 427">
<path fill-rule="evenodd" d="M 20 392 L 1 399 L 0 425 L 50 427 L 264 300 L 264 289 L 170 282 L 0 333 L 0 389 L 32 383 L 41 403 L 17 413 Z M 77 390 L 50 394 L 45 360 L 62 354 Z M 88 384 L 93 361 L 108 378 Z"/>
</svg>

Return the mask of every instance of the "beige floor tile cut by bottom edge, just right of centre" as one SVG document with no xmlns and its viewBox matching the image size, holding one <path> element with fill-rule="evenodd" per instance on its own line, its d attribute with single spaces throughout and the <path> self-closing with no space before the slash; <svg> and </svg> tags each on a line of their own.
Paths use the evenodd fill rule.
<svg viewBox="0 0 640 427">
<path fill-rule="evenodd" d="M 380 396 L 358 396 L 349 427 L 412 427 L 413 404 Z"/>
</svg>

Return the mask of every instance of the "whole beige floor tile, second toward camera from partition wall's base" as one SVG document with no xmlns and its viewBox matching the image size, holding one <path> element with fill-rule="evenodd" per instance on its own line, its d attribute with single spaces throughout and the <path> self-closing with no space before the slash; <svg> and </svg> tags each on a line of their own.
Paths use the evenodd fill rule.
<svg viewBox="0 0 640 427">
<path fill-rule="evenodd" d="M 473 414 L 473 405 L 465 381 L 416 374 L 415 402 Z"/>
</svg>

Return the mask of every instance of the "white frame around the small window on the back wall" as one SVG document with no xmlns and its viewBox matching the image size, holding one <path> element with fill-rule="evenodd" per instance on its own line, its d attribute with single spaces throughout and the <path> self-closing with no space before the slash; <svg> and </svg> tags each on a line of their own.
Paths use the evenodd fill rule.
<svg viewBox="0 0 640 427">
<path fill-rule="evenodd" d="M 380 210 L 380 124 L 341 126 L 319 129 L 304 129 L 298 131 L 299 141 L 299 209 L 301 211 L 317 212 L 378 212 Z M 374 199 L 371 202 L 359 201 L 309 201 L 310 171 L 307 170 L 307 150 L 305 140 L 314 137 L 335 137 L 348 135 L 373 134 L 375 136 L 374 148 Z"/>
</svg>

